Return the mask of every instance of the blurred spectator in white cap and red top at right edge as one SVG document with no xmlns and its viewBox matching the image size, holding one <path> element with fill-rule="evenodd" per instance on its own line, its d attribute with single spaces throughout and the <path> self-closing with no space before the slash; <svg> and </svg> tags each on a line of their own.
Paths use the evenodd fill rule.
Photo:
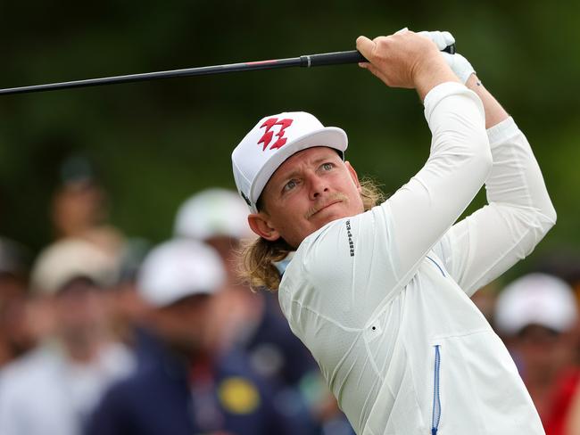
<svg viewBox="0 0 580 435">
<path fill-rule="evenodd" d="M 525 275 L 500 294 L 495 325 L 518 365 L 547 435 L 563 435 L 574 391 L 577 305 L 568 283 Z M 576 432 L 577 433 L 577 432 Z"/>
</svg>

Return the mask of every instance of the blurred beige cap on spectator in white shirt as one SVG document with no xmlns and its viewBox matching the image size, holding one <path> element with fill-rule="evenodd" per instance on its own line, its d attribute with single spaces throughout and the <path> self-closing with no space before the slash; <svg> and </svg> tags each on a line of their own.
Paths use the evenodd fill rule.
<svg viewBox="0 0 580 435">
<path fill-rule="evenodd" d="M 87 278 L 99 287 L 115 283 L 118 265 L 111 255 L 91 242 L 64 239 L 38 254 L 32 267 L 35 291 L 54 294 L 75 278 Z"/>
</svg>

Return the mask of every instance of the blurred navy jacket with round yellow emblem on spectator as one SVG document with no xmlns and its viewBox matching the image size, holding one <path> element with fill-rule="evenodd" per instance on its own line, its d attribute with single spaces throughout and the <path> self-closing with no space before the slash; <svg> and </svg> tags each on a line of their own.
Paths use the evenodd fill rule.
<svg viewBox="0 0 580 435">
<path fill-rule="evenodd" d="M 205 400 L 213 398 L 217 406 L 206 412 L 195 403 L 201 400 L 192 394 L 187 365 L 161 346 L 156 352 L 156 357 L 150 356 L 147 364 L 105 394 L 88 423 L 87 435 L 301 432 L 277 411 L 269 389 L 250 370 L 243 353 L 230 353 L 213 367 L 214 388 Z"/>
</svg>

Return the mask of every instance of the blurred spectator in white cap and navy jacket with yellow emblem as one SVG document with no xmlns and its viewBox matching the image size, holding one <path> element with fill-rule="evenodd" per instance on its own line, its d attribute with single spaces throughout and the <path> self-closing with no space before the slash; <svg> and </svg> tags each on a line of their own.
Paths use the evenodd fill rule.
<svg viewBox="0 0 580 435">
<path fill-rule="evenodd" d="M 220 256 L 201 242 L 165 242 L 147 255 L 137 288 L 156 355 L 109 390 L 89 434 L 301 433 L 276 412 L 244 354 L 214 352 L 211 300 L 225 280 Z"/>
</svg>

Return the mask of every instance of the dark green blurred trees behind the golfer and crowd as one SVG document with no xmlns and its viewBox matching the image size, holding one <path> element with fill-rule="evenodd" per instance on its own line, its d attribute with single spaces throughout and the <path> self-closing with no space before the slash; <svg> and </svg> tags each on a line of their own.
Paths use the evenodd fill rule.
<svg viewBox="0 0 580 435">
<path fill-rule="evenodd" d="M 350 50 L 359 35 L 405 26 L 447 29 L 543 168 L 559 221 L 539 258 L 580 248 L 578 22 L 578 2 L 4 2 L 0 87 Z M 427 159 L 417 94 L 356 65 L 0 96 L 0 234 L 32 250 L 50 242 L 59 168 L 81 153 L 110 195 L 112 223 L 161 241 L 186 197 L 234 187 L 230 153 L 258 119 L 298 110 L 343 127 L 348 159 L 386 193 Z"/>
</svg>

